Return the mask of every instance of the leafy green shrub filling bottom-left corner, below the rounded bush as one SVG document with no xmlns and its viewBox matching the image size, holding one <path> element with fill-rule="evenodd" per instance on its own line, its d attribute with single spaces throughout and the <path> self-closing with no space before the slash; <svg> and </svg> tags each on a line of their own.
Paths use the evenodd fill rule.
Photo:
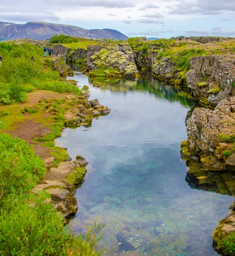
<svg viewBox="0 0 235 256">
<path fill-rule="evenodd" d="M 85 240 L 74 236 L 52 204 L 45 203 L 47 198 L 43 193 L 8 197 L 0 210 L 0 255 L 100 256 L 98 233 L 104 224 L 95 221 Z"/>
</svg>

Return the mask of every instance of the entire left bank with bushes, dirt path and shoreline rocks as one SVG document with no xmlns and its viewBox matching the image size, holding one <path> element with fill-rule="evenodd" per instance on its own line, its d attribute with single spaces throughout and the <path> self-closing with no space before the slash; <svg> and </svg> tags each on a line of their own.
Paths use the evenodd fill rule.
<svg viewBox="0 0 235 256">
<path fill-rule="evenodd" d="M 74 184 L 82 182 L 86 163 L 82 157 L 71 162 L 54 139 L 64 126 L 89 126 L 110 109 L 88 101 L 87 87 L 62 77 L 72 73 L 60 58 L 40 57 L 42 49 L 33 45 L 0 48 L 0 253 L 99 255 L 96 235 L 103 224 L 94 220 L 85 239 L 64 227 L 63 217 L 77 210 Z"/>
</svg>

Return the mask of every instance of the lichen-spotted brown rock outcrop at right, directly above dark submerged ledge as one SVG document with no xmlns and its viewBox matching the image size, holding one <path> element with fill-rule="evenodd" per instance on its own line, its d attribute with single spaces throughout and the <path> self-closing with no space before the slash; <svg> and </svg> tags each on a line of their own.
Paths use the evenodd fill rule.
<svg viewBox="0 0 235 256">
<path fill-rule="evenodd" d="M 195 108 L 187 120 L 187 145 L 183 154 L 200 157 L 218 170 L 235 170 L 235 97 L 222 100 L 214 111 Z M 184 153 L 185 147 L 189 149 Z M 215 170 L 215 169 L 213 169 Z"/>
</svg>

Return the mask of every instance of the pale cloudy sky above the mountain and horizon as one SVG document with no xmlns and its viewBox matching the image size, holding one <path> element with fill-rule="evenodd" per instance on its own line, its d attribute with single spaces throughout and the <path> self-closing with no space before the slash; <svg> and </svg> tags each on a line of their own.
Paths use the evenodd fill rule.
<svg viewBox="0 0 235 256">
<path fill-rule="evenodd" d="M 20 4 L 19 4 L 20 3 Z M 234 0 L 6 0 L 0 21 L 117 29 L 129 37 L 235 37 Z"/>
</svg>

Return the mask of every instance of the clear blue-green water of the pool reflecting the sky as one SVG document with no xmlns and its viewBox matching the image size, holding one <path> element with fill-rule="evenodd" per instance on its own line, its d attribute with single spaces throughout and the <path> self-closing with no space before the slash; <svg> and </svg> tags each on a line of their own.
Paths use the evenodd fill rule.
<svg viewBox="0 0 235 256">
<path fill-rule="evenodd" d="M 109 256 L 218 255 L 212 233 L 233 198 L 191 189 L 185 181 L 180 144 L 193 100 L 151 77 L 99 88 L 87 76 L 73 79 L 89 86 L 90 99 L 112 109 L 91 128 L 66 128 L 56 142 L 73 159 L 89 162 L 75 195 L 74 232 L 85 232 L 94 218 L 105 222 L 101 245 Z"/>
</svg>

